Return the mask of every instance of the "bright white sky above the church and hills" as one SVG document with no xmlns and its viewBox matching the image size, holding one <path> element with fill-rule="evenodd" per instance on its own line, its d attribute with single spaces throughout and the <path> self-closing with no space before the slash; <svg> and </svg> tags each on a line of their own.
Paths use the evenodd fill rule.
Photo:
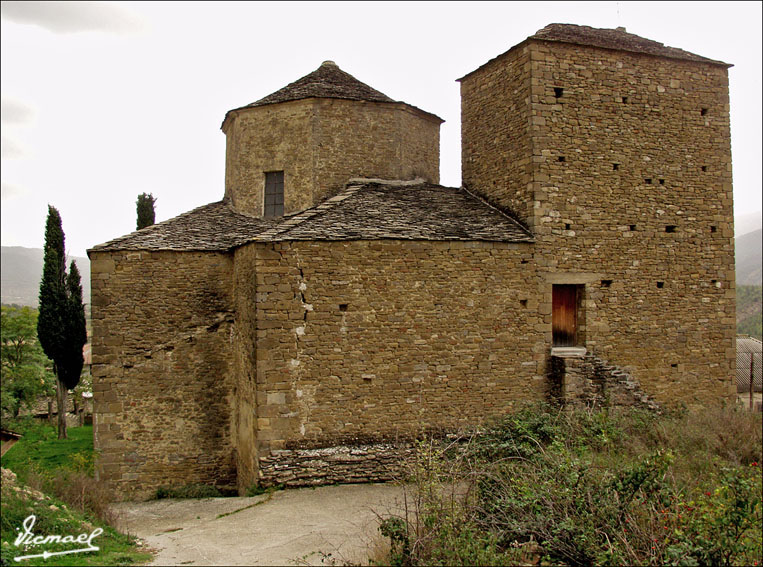
<svg viewBox="0 0 763 567">
<path fill-rule="evenodd" d="M 631 33 L 733 63 L 737 214 L 761 210 L 760 2 L 3 2 L 2 244 L 41 248 L 47 204 L 67 251 L 222 198 L 225 112 L 330 59 L 445 119 L 458 186 L 455 80 L 550 23 Z"/>
</svg>

